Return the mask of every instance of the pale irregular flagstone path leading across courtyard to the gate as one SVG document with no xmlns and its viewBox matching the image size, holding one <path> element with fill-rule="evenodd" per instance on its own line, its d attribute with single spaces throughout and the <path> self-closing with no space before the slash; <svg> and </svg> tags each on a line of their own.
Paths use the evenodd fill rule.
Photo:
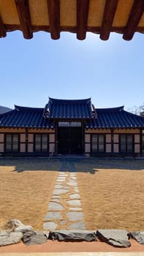
<svg viewBox="0 0 144 256">
<path fill-rule="evenodd" d="M 67 171 L 66 171 L 67 170 Z M 62 162 L 45 215 L 45 230 L 85 230 L 75 164 Z"/>
</svg>

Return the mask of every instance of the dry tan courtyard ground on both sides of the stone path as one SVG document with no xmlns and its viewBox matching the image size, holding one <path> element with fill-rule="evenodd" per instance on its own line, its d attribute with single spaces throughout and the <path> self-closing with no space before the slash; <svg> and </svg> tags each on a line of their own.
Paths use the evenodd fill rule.
<svg viewBox="0 0 144 256">
<path fill-rule="evenodd" d="M 86 229 L 144 230 L 144 159 L 0 159 L 0 229 L 43 229 L 58 171 L 74 171 Z"/>
</svg>

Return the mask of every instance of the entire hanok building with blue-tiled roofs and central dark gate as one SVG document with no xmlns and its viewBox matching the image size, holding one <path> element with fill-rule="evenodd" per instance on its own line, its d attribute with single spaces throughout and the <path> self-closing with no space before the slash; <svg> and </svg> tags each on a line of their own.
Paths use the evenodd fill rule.
<svg viewBox="0 0 144 256">
<path fill-rule="evenodd" d="M 140 157 L 144 118 L 118 108 L 94 108 L 91 99 L 52 99 L 45 108 L 15 105 L 0 115 L 1 156 Z"/>
</svg>

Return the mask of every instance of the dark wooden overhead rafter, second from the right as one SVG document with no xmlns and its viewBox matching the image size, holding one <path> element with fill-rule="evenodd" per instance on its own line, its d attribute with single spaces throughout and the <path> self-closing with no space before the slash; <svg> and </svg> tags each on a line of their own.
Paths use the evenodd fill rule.
<svg viewBox="0 0 144 256">
<path fill-rule="evenodd" d="M 113 26 L 113 19 L 117 9 L 118 0 L 106 0 L 105 10 L 102 19 L 102 28 L 100 31 L 100 39 L 107 40 Z"/>
</svg>

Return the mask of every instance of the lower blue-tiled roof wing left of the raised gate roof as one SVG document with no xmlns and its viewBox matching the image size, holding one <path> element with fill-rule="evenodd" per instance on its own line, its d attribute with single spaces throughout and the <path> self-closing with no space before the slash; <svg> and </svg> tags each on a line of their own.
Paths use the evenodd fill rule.
<svg viewBox="0 0 144 256">
<path fill-rule="evenodd" d="M 53 121 L 43 117 L 44 108 L 15 106 L 15 110 L 0 115 L 0 127 L 53 128 Z"/>
</svg>

